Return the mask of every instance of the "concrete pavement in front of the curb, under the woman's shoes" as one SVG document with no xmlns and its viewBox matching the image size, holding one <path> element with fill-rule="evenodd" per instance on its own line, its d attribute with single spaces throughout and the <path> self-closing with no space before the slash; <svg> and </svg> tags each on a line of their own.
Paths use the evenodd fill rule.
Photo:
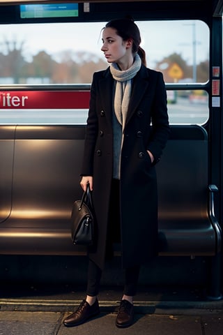
<svg viewBox="0 0 223 335">
<path fill-rule="evenodd" d="M 1 335 L 222 335 L 223 313 L 200 315 L 136 314 L 134 324 L 126 329 L 115 325 L 116 313 L 102 312 L 84 325 L 66 328 L 67 313 L 0 311 Z"/>
</svg>

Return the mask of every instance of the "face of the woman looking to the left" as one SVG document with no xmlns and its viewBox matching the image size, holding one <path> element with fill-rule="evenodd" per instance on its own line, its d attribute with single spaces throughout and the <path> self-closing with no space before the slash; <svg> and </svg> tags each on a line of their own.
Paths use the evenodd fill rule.
<svg viewBox="0 0 223 335">
<path fill-rule="evenodd" d="M 128 62 L 130 54 L 132 54 L 132 40 L 123 40 L 121 36 L 116 34 L 115 29 L 108 27 L 103 30 L 102 43 L 101 50 L 109 63 L 120 65 Z"/>
</svg>

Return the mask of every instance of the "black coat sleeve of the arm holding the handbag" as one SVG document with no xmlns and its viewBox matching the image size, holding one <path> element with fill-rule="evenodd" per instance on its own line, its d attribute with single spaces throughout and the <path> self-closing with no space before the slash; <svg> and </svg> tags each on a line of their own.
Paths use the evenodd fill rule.
<svg viewBox="0 0 223 335">
<path fill-rule="evenodd" d="M 93 157 L 95 152 L 95 142 L 98 134 L 98 116 L 96 111 L 96 73 L 93 75 L 91 84 L 91 96 L 89 105 L 89 117 L 86 124 L 86 134 L 84 141 L 84 156 L 82 161 L 81 176 L 93 176 Z"/>
</svg>

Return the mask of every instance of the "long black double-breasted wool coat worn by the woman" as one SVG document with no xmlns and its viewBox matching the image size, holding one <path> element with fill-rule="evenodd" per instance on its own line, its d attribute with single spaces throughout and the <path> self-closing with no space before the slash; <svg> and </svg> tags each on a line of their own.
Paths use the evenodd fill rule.
<svg viewBox="0 0 223 335">
<path fill-rule="evenodd" d="M 98 232 L 89 258 L 105 262 L 109 195 L 113 166 L 114 80 L 107 70 L 94 73 L 86 126 L 82 175 L 93 176 L 93 204 Z M 141 66 L 132 94 L 121 151 L 121 251 L 124 268 L 157 254 L 157 179 L 155 164 L 169 137 L 167 93 L 162 73 Z M 153 164 L 146 150 L 155 158 Z"/>
</svg>

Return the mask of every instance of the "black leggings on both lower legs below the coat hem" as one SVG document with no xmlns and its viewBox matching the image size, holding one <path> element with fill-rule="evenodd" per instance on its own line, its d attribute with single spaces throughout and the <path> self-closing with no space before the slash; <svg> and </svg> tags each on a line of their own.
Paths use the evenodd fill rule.
<svg viewBox="0 0 223 335">
<path fill-rule="evenodd" d="M 128 267 L 125 269 L 125 285 L 123 294 L 124 295 L 136 295 L 137 283 L 139 278 L 139 266 Z M 100 278 L 102 276 L 102 270 L 95 262 L 89 260 L 89 274 L 88 274 L 88 284 L 86 289 L 86 294 L 94 297 L 98 295 L 100 288 Z"/>
</svg>

